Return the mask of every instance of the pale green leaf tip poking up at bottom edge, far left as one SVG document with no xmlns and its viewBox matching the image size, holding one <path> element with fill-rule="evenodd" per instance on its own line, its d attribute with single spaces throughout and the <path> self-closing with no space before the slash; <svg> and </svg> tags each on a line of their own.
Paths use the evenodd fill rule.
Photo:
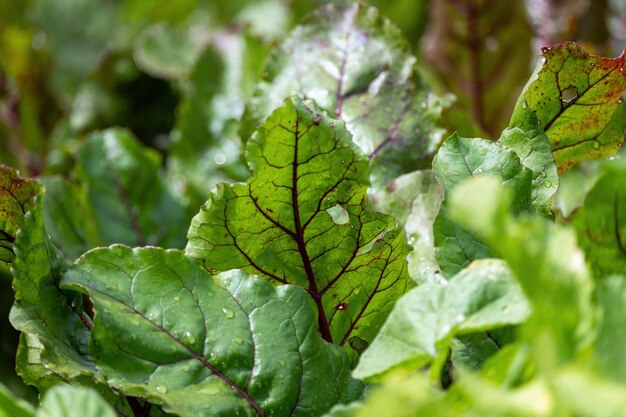
<svg viewBox="0 0 626 417">
<path fill-rule="evenodd" d="M 116 417 L 96 391 L 58 385 L 46 393 L 37 417 Z"/>
</svg>

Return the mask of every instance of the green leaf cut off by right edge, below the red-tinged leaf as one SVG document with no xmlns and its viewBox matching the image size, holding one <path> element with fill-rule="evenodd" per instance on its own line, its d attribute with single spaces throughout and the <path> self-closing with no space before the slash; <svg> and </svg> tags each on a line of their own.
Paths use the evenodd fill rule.
<svg viewBox="0 0 626 417">
<path fill-rule="evenodd" d="M 580 246 L 597 278 L 626 270 L 626 160 L 608 161 L 601 172 L 574 218 Z"/>
</svg>

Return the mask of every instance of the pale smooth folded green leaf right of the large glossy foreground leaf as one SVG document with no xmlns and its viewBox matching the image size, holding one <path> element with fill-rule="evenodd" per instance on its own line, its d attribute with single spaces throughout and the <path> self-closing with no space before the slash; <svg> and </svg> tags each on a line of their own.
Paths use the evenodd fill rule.
<svg viewBox="0 0 626 417">
<path fill-rule="evenodd" d="M 372 380 L 393 369 L 418 369 L 445 354 L 457 334 L 521 323 L 527 315 L 506 264 L 476 261 L 446 285 L 423 284 L 402 297 L 354 375 Z"/>
</svg>

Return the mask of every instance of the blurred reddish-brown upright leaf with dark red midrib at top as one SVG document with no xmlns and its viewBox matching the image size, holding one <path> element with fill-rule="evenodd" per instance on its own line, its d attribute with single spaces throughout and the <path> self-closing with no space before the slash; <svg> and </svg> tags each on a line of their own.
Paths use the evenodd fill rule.
<svg viewBox="0 0 626 417">
<path fill-rule="evenodd" d="M 431 21 L 422 42 L 425 61 L 445 90 L 458 97 L 455 107 L 497 138 L 530 75 L 532 31 L 524 2 L 430 4 Z"/>
</svg>

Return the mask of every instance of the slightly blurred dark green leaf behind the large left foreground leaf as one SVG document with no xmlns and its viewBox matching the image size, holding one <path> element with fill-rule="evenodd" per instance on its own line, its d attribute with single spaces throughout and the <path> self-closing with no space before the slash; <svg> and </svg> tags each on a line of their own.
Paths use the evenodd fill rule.
<svg viewBox="0 0 626 417">
<path fill-rule="evenodd" d="M 105 245 L 184 245 L 187 213 L 159 176 L 160 165 L 154 150 L 120 129 L 96 132 L 78 150 L 77 176 Z"/>
</svg>

